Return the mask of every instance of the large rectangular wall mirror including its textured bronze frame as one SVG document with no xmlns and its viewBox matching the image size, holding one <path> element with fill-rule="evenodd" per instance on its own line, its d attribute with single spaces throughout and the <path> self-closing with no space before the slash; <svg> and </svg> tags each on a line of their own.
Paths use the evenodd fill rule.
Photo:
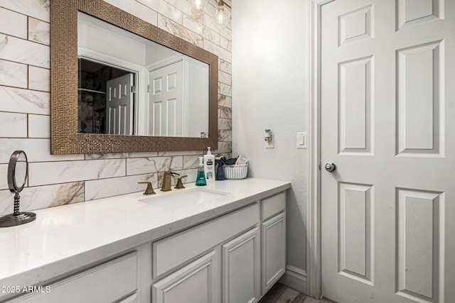
<svg viewBox="0 0 455 303">
<path fill-rule="evenodd" d="M 53 0 L 50 9 L 51 153 L 218 148 L 218 56 L 102 0 Z M 95 48 L 94 36 L 110 44 Z M 127 62 L 119 53 L 132 53 L 129 57 L 141 57 L 145 64 Z M 159 53 L 171 55 L 152 62 Z M 181 86 L 191 94 L 183 94 L 181 104 L 154 102 L 150 92 L 159 90 L 159 81 L 151 72 L 172 62 L 181 62 Z M 107 80 L 90 87 L 90 79 L 99 76 L 87 77 L 87 70 L 129 81 L 129 110 L 117 106 L 115 112 L 97 99 L 107 95 Z M 109 111 L 114 112 L 110 117 Z"/>
</svg>

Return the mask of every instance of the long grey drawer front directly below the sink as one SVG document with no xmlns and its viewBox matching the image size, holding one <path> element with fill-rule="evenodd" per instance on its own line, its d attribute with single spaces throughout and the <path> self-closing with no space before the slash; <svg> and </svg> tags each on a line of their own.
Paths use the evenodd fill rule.
<svg viewBox="0 0 455 303">
<path fill-rule="evenodd" d="M 154 279 L 206 250 L 215 247 L 259 221 L 259 206 L 252 204 L 238 211 L 183 231 L 153 244 Z"/>
</svg>

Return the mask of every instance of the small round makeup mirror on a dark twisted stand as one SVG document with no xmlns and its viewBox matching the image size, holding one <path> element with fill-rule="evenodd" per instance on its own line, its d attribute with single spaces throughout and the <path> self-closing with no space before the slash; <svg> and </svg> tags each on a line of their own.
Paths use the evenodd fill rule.
<svg viewBox="0 0 455 303">
<path fill-rule="evenodd" d="M 0 227 L 16 226 L 26 224 L 36 219 L 33 212 L 21 212 L 19 195 L 25 187 L 28 176 L 27 155 L 23 150 L 16 150 L 9 159 L 8 164 L 8 187 L 14 192 L 14 212 L 0 217 Z"/>
</svg>

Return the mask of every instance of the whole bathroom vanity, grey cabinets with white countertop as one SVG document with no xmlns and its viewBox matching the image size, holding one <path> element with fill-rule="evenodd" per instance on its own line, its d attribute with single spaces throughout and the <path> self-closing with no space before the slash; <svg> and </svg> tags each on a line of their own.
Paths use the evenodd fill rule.
<svg viewBox="0 0 455 303">
<path fill-rule="evenodd" d="M 0 230 L 0 302 L 257 302 L 286 268 L 290 186 L 225 180 L 38 210 Z"/>
</svg>

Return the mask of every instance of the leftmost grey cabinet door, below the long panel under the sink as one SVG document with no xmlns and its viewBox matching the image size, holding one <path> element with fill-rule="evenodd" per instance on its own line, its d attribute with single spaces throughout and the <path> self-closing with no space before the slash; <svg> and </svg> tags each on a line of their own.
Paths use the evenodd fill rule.
<svg viewBox="0 0 455 303">
<path fill-rule="evenodd" d="M 152 286 L 154 303 L 215 302 L 215 250 Z"/>
</svg>

